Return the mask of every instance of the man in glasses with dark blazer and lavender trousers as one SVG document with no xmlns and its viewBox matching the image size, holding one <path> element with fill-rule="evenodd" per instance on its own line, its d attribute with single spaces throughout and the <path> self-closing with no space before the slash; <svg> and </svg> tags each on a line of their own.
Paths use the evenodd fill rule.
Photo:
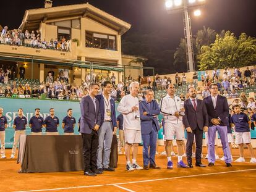
<svg viewBox="0 0 256 192">
<path fill-rule="evenodd" d="M 218 95 L 218 85 L 213 83 L 209 86 L 210 96 L 203 99 L 207 107 L 209 128 L 208 128 L 208 166 L 215 163 L 215 135 L 218 131 L 224 152 L 224 161 L 227 167 L 231 165 L 231 152 L 228 144 L 228 101 L 225 97 Z"/>
</svg>

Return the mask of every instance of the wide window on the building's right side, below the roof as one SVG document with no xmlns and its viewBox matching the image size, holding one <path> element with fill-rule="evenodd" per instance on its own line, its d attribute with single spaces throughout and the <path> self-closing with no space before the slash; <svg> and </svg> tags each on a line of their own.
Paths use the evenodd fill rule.
<svg viewBox="0 0 256 192">
<path fill-rule="evenodd" d="M 85 46 L 116 51 L 116 36 L 85 31 Z"/>
</svg>

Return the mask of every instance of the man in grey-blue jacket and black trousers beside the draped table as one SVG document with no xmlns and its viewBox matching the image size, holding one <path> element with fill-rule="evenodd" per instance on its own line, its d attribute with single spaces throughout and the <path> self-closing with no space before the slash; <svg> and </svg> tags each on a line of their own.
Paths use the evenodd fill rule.
<svg viewBox="0 0 256 192">
<path fill-rule="evenodd" d="M 80 102 L 81 122 L 80 133 L 83 138 L 83 161 L 85 169 L 83 175 L 96 176 L 96 153 L 98 149 L 98 129 L 100 128 L 101 114 L 99 101 L 95 98 L 100 86 L 96 83 L 89 85 L 89 94 Z"/>
</svg>

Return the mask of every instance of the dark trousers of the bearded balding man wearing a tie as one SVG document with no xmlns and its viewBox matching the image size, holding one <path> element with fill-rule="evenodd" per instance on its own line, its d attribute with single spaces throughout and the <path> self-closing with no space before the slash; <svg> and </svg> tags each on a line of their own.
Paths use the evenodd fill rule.
<svg viewBox="0 0 256 192">
<path fill-rule="evenodd" d="M 198 127 L 192 130 L 192 133 L 187 133 L 187 163 L 192 164 L 192 145 L 195 136 L 195 162 L 201 162 L 202 144 L 203 144 L 203 130 Z"/>
</svg>

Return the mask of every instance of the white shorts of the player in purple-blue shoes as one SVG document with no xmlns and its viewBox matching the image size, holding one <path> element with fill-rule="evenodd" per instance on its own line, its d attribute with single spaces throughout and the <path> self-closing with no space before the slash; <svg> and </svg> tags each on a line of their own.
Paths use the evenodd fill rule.
<svg viewBox="0 0 256 192">
<path fill-rule="evenodd" d="M 185 132 L 182 123 L 164 123 L 164 139 L 165 140 L 184 140 Z"/>
</svg>

